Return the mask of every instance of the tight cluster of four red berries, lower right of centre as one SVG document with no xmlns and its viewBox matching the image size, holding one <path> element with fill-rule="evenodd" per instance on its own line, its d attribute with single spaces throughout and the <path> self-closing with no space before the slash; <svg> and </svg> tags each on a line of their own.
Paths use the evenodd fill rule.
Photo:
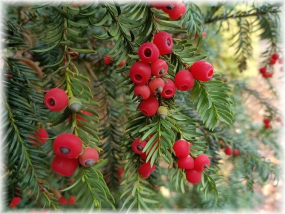
<svg viewBox="0 0 285 214">
<path fill-rule="evenodd" d="M 174 142 L 173 150 L 175 152 L 175 156 L 178 157 L 178 167 L 185 169 L 186 179 L 190 183 L 198 183 L 201 181 L 202 171 L 209 166 L 210 159 L 205 154 L 200 154 L 193 159 L 193 157 L 189 155 L 189 145 L 191 144 L 192 143 L 187 142 L 184 139 L 179 139 Z"/>
</svg>

